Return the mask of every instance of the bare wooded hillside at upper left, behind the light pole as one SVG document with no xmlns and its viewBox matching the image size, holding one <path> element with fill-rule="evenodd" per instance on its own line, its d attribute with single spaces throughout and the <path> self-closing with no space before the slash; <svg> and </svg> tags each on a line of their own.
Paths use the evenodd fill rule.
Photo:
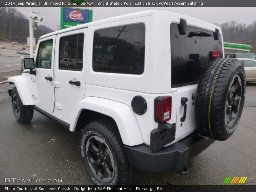
<svg viewBox="0 0 256 192">
<path fill-rule="evenodd" d="M 28 18 L 15 8 L 0 7 L 0 41 L 27 42 L 29 36 Z M 44 34 L 53 30 L 44 25 L 35 25 L 36 42 Z"/>
</svg>

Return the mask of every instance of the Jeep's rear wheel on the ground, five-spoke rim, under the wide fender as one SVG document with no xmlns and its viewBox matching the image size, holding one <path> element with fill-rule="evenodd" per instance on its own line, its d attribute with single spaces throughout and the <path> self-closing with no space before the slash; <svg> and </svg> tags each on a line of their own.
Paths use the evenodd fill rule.
<svg viewBox="0 0 256 192">
<path fill-rule="evenodd" d="M 130 185 L 135 181 L 115 122 L 101 119 L 87 124 L 81 135 L 81 153 L 95 185 Z"/>
</svg>

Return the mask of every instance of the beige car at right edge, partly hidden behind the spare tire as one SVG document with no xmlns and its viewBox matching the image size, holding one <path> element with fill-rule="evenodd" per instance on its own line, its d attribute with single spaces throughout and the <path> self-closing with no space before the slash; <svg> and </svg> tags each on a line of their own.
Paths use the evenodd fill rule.
<svg viewBox="0 0 256 192">
<path fill-rule="evenodd" d="M 256 60 L 237 58 L 244 65 L 244 70 L 246 74 L 246 81 L 256 81 Z"/>
</svg>

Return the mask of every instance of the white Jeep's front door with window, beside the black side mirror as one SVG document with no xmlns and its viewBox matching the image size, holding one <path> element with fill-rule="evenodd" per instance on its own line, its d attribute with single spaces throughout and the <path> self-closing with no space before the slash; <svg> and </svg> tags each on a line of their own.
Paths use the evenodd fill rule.
<svg viewBox="0 0 256 192">
<path fill-rule="evenodd" d="M 51 113 L 54 110 L 54 47 L 56 36 L 50 36 L 39 40 L 36 53 L 35 105 L 44 111 Z"/>
</svg>

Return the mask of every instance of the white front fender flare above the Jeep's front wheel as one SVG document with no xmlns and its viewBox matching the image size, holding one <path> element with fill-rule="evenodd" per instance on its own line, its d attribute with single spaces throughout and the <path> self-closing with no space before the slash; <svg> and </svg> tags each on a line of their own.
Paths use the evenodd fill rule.
<svg viewBox="0 0 256 192">
<path fill-rule="evenodd" d="M 9 77 L 7 81 L 8 81 L 8 84 L 10 84 L 10 82 L 15 84 L 23 105 L 34 105 L 29 88 L 28 88 L 26 77 L 20 76 L 20 75 Z"/>
</svg>

